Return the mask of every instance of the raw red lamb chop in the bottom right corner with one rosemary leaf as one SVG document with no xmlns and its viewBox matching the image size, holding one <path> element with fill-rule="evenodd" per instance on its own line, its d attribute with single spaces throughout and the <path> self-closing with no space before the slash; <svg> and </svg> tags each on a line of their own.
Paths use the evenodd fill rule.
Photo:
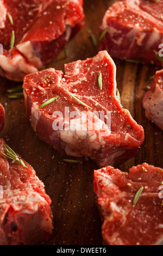
<svg viewBox="0 0 163 256">
<path fill-rule="evenodd" d="M 129 173 L 111 166 L 95 170 L 93 185 L 102 214 L 102 235 L 109 245 L 161 243 L 162 180 L 163 170 L 147 163 L 130 168 Z"/>
</svg>

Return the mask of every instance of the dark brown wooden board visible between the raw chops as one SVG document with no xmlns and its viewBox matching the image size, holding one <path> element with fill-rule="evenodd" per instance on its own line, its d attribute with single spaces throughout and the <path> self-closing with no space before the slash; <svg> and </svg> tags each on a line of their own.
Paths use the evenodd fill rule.
<svg viewBox="0 0 163 256">
<path fill-rule="evenodd" d="M 86 25 L 68 44 L 68 57 L 64 51 L 48 67 L 64 71 L 64 64 L 95 56 L 98 50 L 90 40 L 90 34 L 99 38 L 99 25 L 108 7 L 115 1 L 85 0 Z M 122 164 L 123 171 L 131 166 L 148 162 L 163 168 L 163 132 L 145 117 L 142 97 L 150 86 L 149 77 L 160 67 L 128 63 L 114 59 L 117 66 L 117 88 L 121 103 L 129 109 L 137 123 L 145 129 L 145 142 L 133 159 Z M 5 126 L 0 133 L 7 144 L 29 162 L 37 176 L 45 184 L 52 199 L 54 219 L 53 235 L 40 245 L 102 245 L 101 219 L 93 192 L 93 170 L 97 165 L 89 160 L 83 164 L 66 163 L 48 144 L 36 137 L 26 116 L 23 99 L 10 100 L 7 89 L 20 83 L 0 77 L 0 102 L 6 112 Z M 66 158 L 68 158 L 66 156 Z"/>
</svg>

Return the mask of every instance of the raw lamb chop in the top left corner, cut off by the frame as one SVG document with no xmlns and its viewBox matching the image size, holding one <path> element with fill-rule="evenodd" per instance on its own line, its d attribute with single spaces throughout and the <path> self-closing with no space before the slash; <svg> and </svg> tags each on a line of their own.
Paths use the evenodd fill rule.
<svg viewBox="0 0 163 256">
<path fill-rule="evenodd" d="M 0 75 L 23 81 L 50 63 L 84 25 L 83 0 L 0 0 Z"/>
</svg>

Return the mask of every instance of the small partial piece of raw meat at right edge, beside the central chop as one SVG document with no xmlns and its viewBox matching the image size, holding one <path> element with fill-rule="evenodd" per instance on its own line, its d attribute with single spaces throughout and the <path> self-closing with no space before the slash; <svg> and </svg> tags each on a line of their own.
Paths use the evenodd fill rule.
<svg viewBox="0 0 163 256">
<path fill-rule="evenodd" d="M 157 71 L 151 89 L 143 97 L 146 117 L 163 130 L 163 69 Z"/>
</svg>

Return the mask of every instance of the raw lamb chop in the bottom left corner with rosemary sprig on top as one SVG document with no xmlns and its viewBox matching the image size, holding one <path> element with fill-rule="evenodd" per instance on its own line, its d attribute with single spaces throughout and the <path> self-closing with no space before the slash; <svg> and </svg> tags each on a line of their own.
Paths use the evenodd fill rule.
<svg viewBox="0 0 163 256">
<path fill-rule="evenodd" d="M 0 139 L 0 151 L 7 154 L 4 145 Z M 23 162 L 26 167 L 0 153 L 0 245 L 33 245 L 52 235 L 51 199 Z"/>
</svg>

